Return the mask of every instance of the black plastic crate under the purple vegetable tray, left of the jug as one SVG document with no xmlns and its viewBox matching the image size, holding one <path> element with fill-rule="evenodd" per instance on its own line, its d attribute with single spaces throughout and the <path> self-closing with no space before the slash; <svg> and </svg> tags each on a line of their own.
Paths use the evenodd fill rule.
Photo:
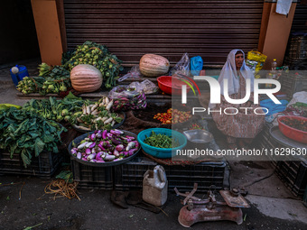
<svg viewBox="0 0 307 230">
<path fill-rule="evenodd" d="M 70 159 L 73 179 L 79 189 L 113 189 L 112 167 L 92 167 Z"/>
</svg>

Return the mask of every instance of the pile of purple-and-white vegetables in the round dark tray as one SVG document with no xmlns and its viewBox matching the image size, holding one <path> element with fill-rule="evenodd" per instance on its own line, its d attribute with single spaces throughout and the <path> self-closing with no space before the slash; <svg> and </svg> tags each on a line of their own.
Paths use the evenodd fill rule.
<svg viewBox="0 0 307 230">
<path fill-rule="evenodd" d="M 132 156 L 139 149 L 135 137 L 125 135 L 120 130 L 96 130 L 88 134 L 78 146 L 70 150 L 71 154 L 83 161 L 106 162 L 120 161 Z"/>
</svg>

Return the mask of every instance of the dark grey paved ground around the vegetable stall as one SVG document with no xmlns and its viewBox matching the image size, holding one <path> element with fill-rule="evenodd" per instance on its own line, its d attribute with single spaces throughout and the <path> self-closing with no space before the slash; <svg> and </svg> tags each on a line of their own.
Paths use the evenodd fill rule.
<svg viewBox="0 0 307 230">
<path fill-rule="evenodd" d="M 35 66 L 33 61 L 30 63 Z M 8 69 L 0 69 L 0 104 L 22 106 L 26 99 L 15 95 Z M 224 140 L 217 139 L 223 145 Z M 243 209 L 245 221 L 242 225 L 229 221 L 204 222 L 192 225 L 191 229 L 307 229 L 307 207 L 284 187 L 269 162 L 231 161 L 228 169 L 230 186 L 248 184 L 246 198 L 251 207 Z M 183 229 L 177 221 L 182 207 L 180 198 L 172 193 L 163 209 L 165 214 L 154 214 L 138 207 L 116 207 L 110 201 L 110 191 L 106 190 L 79 189 L 81 201 L 53 199 L 44 195 L 50 181 L 1 176 L 0 230 L 23 229 L 41 223 L 34 229 Z"/>
</svg>

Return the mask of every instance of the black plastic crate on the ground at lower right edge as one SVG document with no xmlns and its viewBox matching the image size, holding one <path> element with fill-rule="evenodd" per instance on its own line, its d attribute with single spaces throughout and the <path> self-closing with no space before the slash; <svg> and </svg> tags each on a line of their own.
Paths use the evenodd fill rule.
<svg viewBox="0 0 307 230">
<path fill-rule="evenodd" d="M 302 198 L 307 186 L 307 161 L 278 161 L 275 172 L 294 196 Z"/>
</svg>

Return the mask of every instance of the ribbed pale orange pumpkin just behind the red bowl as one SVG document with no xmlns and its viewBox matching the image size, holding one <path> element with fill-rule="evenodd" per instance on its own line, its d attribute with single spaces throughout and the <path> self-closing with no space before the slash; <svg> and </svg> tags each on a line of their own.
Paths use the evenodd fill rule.
<svg viewBox="0 0 307 230">
<path fill-rule="evenodd" d="M 140 60 L 140 71 L 145 77 L 158 77 L 170 68 L 170 61 L 160 55 L 145 54 Z"/>
</svg>

